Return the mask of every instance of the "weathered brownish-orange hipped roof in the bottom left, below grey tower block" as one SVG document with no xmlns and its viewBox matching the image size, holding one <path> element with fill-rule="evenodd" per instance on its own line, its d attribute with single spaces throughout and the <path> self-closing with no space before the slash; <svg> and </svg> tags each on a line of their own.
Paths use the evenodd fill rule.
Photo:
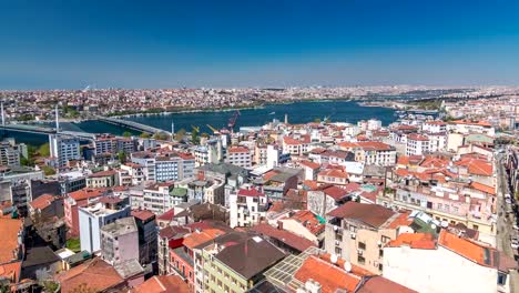
<svg viewBox="0 0 519 293">
<path fill-rule="evenodd" d="M 54 276 L 61 284 L 61 292 L 74 292 L 79 286 L 104 291 L 124 282 L 118 271 L 100 257 L 80 264 Z"/>
</svg>

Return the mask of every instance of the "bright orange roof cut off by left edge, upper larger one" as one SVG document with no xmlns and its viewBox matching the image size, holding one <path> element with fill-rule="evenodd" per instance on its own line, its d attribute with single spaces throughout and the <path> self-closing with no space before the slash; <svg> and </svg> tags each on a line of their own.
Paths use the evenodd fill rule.
<svg viewBox="0 0 519 293">
<path fill-rule="evenodd" d="M 0 263 L 7 263 L 14 259 L 13 251 L 19 247 L 18 233 L 22 230 L 20 219 L 0 219 Z"/>
</svg>

